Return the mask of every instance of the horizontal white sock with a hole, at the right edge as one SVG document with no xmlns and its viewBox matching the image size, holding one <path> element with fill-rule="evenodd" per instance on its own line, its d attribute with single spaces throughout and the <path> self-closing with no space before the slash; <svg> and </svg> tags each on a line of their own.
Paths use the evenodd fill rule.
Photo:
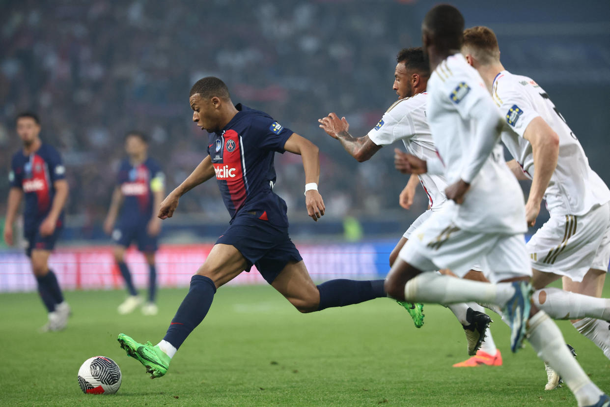
<svg viewBox="0 0 610 407">
<path fill-rule="evenodd" d="M 590 297 L 551 287 L 534 292 L 532 300 L 538 309 L 553 319 L 610 319 L 608 298 Z"/>
</svg>

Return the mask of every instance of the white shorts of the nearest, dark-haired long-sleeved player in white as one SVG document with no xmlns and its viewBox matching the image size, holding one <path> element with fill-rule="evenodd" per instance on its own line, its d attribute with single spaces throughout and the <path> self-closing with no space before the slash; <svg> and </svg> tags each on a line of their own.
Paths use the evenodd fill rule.
<svg viewBox="0 0 610 407">
<path fill-rule="evenodd" d="M 522 234 L 472 232 L 451 222 L 448 211 L 434 212 L 412 233 L 398 256 L 423 272 L 449 268 L 463 277 L 473 263 L 481 262 L 492 283 L 531 276 Z"/>
</svg>

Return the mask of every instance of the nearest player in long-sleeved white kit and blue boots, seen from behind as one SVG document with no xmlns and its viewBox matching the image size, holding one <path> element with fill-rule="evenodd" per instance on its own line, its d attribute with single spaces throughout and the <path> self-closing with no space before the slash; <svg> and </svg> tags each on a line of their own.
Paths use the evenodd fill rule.
<svg viewBox="0 0 610 407">
<path fill-rule="evenodd" d="M 497 304 L 511 326 L 512 351 L 520 348 L 527 332 L 537 355 L 561 374 L 579 406 L 608 404 L 610 398 L 572 357 L 553 320 L 530 303 L 523 195 L 498 144 L 500 112 L 460 54 L 463 30 L 461 13 L 446 4 L 430 10 L 422 24 L 434 70 L 428 83 L 428 123 L 439 159 L 424 161 L 399 152 L 397 168 L 444 173 L 453 182 L 445 190 L 453 202 L 413 232 L 415 238 L 400 251 L 386 279 L 387 292 L 407 301 Z M 493 284 L 432 272 L 450 268 L 463 276 L 473 258 L 481 258 Z"/>
</svg>

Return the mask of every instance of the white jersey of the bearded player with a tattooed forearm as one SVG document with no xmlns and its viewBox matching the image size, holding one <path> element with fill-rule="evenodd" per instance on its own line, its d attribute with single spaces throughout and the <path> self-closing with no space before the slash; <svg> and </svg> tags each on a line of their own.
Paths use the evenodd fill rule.
<svg viewBox="0 0 610 407">
<path fill-rule="evenodd" d="M 368 138 L 378 146 L 403 140 L 404 147 L 414 156 L 422 160 L 436 157 L 436 148 L 426 119 L 426 101 L 427 93 L 399 99 L 387 109 L 375 128 L 368 132 Z M 428 194 L 430 209 L 438 211 L 447 201 L 447 181 L 443 176 L 429 174 L 422 174 L 419 179 Z"/>
</svg>

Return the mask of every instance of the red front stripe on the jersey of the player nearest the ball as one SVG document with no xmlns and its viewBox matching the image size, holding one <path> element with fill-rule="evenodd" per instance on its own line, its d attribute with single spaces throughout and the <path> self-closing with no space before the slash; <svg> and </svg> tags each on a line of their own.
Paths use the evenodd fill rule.
<svg viewBox="0 0 610 407">
<path fill-rule="evenodd" d="M 224 132 L 223 163 L 213 164 L 217 179 L 227 182 L 231 201 L 235 212 L 239 211 L 246 201 L 246 183 L 242 171 L 242 146 L 239 143 L 239 135 L 235 130 Z"/>
</svg>

